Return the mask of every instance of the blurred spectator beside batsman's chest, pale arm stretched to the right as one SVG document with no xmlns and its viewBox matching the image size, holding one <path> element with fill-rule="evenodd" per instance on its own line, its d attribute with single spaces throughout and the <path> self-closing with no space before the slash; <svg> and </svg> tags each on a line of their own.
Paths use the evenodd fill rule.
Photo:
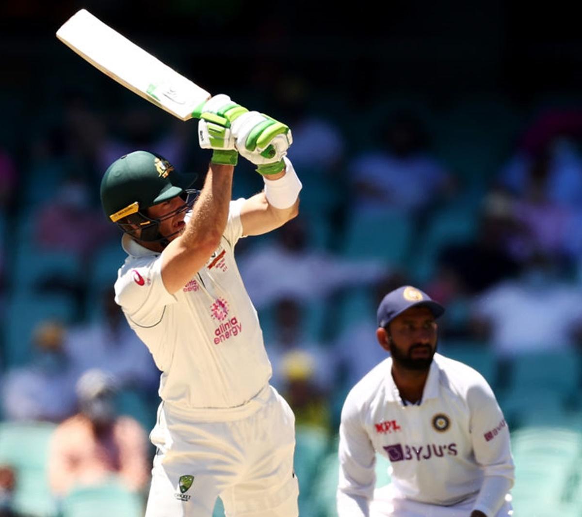
<svg viewBox="0 0 582 517">
<path fill-rule="evenodd" d="M 346 261 L 311 249 L 307 224 L 301 216 L 290 220 L 276 231 L 275 243 L 240 258 L 240 273 L 257 309 L 282 298 L 322 300 L 334 291 L 364 285 L 385 274 L 385 266 L 377 261 Z"/>
</svg>

